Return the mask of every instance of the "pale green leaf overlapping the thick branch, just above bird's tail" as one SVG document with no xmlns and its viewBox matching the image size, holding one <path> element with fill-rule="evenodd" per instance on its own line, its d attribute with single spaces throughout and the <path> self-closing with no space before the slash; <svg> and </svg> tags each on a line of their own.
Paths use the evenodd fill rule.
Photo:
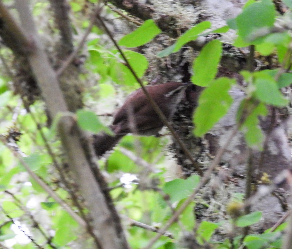
<svg viewBox="0 0 292 249">
<path fill-rule="evenodd" d="M 77 115 L 77 123 L 81 129 L 88 130 L 93 133 L 99 133 L 100 131 L 105 131 L 108 134 L 112 134 L 112 131 L 100 122 L 100 120 L 98 119 L 98 116 L 96 116 L 94 112 L 79 109 L 76 112 L 76 115 Z"/>
</svg>

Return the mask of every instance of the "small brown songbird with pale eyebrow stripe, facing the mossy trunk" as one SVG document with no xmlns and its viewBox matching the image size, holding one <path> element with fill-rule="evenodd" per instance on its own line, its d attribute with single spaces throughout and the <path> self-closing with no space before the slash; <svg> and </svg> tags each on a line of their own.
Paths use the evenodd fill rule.
<svg viewBox="0 0 292 249">
<path fill-rule="evenodd" d="M 182 82 L 146 86 L 147 92 L 168 120 L 171 120 L 180 102 L 195 105 L 198 96 L 197 88 L 199 87 L 192 83 Z M 95 153 L 101 156 L 111 150 L 128 133 L 157 135 L 163 126 L 163 121 L 154 111 L 142 88 L 139 88 L 127 97 L 125 103 L 114 114 L 114 121 L 109 128 L 115 135 L 106 133 L 93 135 Z"/>
</svg>

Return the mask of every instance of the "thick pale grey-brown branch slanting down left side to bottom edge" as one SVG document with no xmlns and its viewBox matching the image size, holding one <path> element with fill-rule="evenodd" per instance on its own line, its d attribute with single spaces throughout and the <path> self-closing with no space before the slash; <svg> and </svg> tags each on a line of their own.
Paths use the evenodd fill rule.
<svg viewBox="0 0 292 249">
<path fill-rule="evenodd" d="M 15 0 L 15 3 L 23 32 L 29 34 L 33 38 L 34 44 L 36 44 L 34 51 L 28 56 L 29 63 L 41 88 L 48 111 L 55 118 L 58 113 L 68 111 L 65 99 L 60 90 L 57 76 L 44 51 L 44 46 L 39 40 L 27 1 Z M 128 248 L 122 226 L 119 224 L 120 219 L 112 214 L 116 212 L 114 207 L 109 208 L 112 205 L 109 202 L 112 200 L 102 192 L 101 183 L 96 181 L 93 175 L 95 173 L 92 169 L 93 165 L 95 171 L 99 169 L 93 162 L 91 152 L 86 151 L 87 149 L 89 150 L 88 141 L 82 135 L 74 119 L 68 115 L 61 116 L 58 123 L 58 131 L 64 151 L 67 154 L 70 169 L 74 173 L 75 181 L 79 185 L 87 207 L 91 212 L 92 224 L 95 235 L 101 245 L 100 248 Z M 104 184 L 106 183 L 104 182 Z M 97 200 L 98 205 L 96 204 Z"/>
</svg>

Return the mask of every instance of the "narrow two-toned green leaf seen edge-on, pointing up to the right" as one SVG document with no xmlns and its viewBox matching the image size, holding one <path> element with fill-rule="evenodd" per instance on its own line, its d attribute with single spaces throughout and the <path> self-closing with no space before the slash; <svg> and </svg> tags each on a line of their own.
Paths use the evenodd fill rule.
<svg viewBox="0 0 292 249">
<path fill-rule="evenodd" d="M 183 45 L 190 41 L 194 41 L 198 38 L 199 34 L 203 32 L 204 30 L 211 27 L 211 23 L 208 21 L 201 22 L 191 29 L 187 30 L 183 35 L 181 35 L 178 40 L 175 42 L 175 44 L 171 45 L 170 47 L 167 47 L 166 49 L 160 51 L 158 53 L 159 57 L 168 56 L 171 53 L 177 52 L 180 50 Z"/>
</svg>

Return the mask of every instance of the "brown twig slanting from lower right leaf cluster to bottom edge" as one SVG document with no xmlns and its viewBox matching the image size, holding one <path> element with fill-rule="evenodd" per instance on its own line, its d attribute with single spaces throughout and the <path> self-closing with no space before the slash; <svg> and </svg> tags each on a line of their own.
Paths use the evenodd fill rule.
<svg viewBox="0 0 292 249">
<path fill-rule="evenodd" d="M 154 243 L 160 238 L 161 234 L 165 233 L 166 230 L 173 224 L 173 222 L 175 222 L 178 217 L 180 216 L 180 214 L 185 210 L 185 208 L 193 201 L 193 199 L 195 198 L 195 196 L 197 195 L 197 193 L 199 192 L 199 190 L 206 185 L 206 183 L 208 183 L 208 180 L 213 172 L 213 170 L 218 166 L 218 164 L 220 163 L 220 160 L 226 150 L 226 148 L 228 147 L 228 145 L 230 144 L 232 138 L 234 137 L 234 135 L 237 133 L 238 129 L 239 129 L 240 125 L 238 124 L 231 132 L 229 138 L 226 140 L 225 144 L 223 145 L 223 147 L 221 147 L 215 158 L 213 159 L 211 165 L 209 166 L 208 170 L 204 173 L 204 176 L 201 178 L 201 181 L 199 182 L 197 188 L 194 189 L 193 193 L 187 198 L 187 200 L 185 200 L 185 202 L 183 202 L 183 204 L 179 207 L 179 209 L 175 212 L 175 214 L 173 214 L 173 216 L 166 222 L 165 226 L 163 228 L 161 228 L 158 231 L 157 236 L 155 236 L 154 238 L 152 238 L 150 240 L 150 242 L 148 243 L 147 246 L 145 246 L 143 249 L 150 249 Z"/>
</svg>

